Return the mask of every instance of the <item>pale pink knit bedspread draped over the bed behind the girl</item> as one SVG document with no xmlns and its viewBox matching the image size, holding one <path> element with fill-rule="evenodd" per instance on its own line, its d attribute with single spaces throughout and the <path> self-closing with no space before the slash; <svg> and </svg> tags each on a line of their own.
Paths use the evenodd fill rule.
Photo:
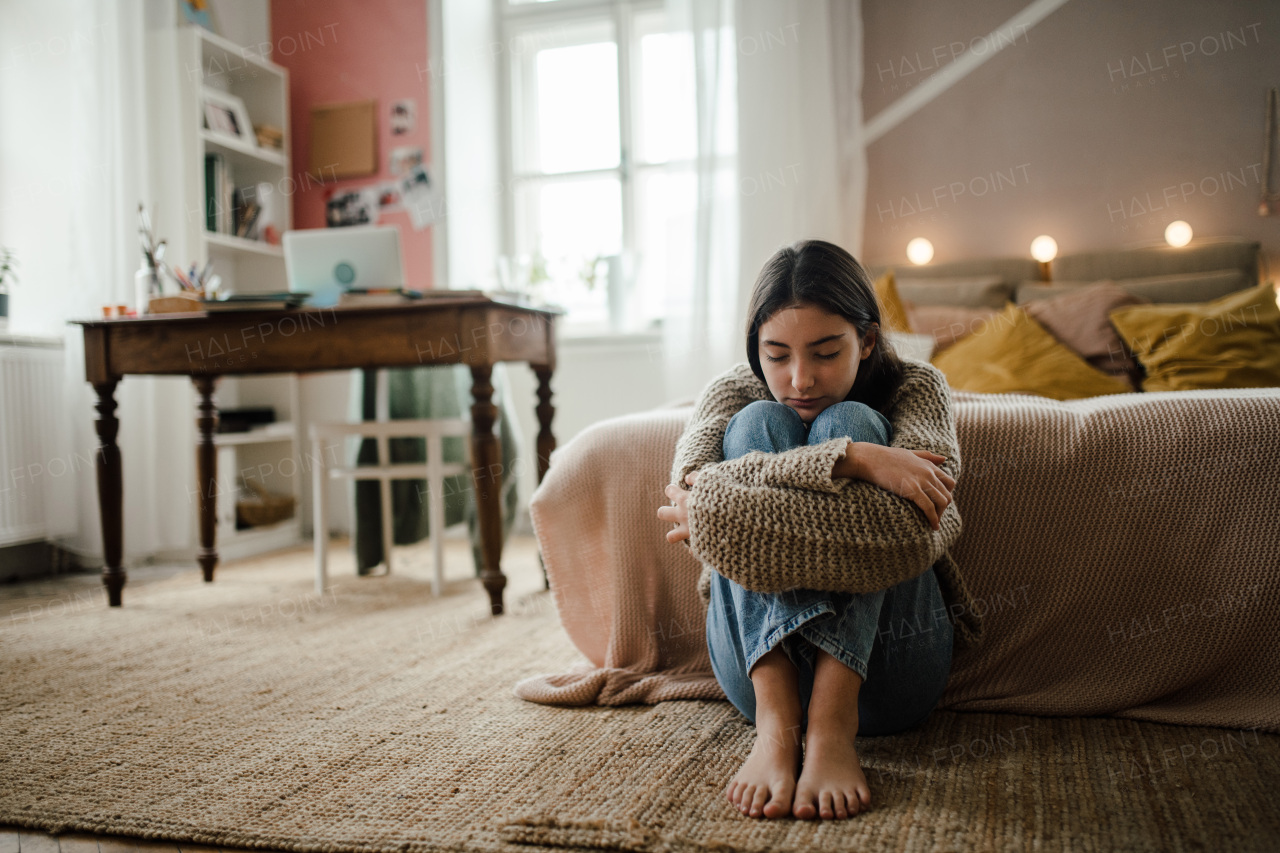
<svg viewBox="0 0 1280 853">
<path fill-rule="evenodd" d="M 954 556 L 987 637 L 957 651 L 942 707 L 1280 731 L 1280 389 L 954 398 Z M 655 515 L 691 411 L 605 420 L 553 453 L 530 508 L 589 662 L 517 695 L 723 698 L 700 566 Z"/>
</svg>

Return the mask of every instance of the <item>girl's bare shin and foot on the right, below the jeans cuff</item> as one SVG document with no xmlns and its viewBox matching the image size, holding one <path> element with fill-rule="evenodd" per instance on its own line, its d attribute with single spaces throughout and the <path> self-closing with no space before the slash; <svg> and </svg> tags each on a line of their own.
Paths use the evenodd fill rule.
<svg viewBox="0 0 1280 853">
<path fill-rule="evenodd" d="M 818 649 L 804 738 L 804 771 L 792 812 L 801 820 L 844 820 L 872 804 L 858 762 L 858 693 L 863 676 Z"/>
</svg>

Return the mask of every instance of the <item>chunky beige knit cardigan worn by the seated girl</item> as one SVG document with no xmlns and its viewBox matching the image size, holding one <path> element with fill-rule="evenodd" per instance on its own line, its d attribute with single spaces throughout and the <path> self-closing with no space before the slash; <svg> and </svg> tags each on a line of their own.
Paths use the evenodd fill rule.
<svg viewBox="0 0 1280 853">
<path fill-rule="evenodd" d="M 942 470 L 959 482 L 960 443 L 946 377 L 924 361 L 904 359 L 902 365 L 902 384 L 884 407 L 893 425 L 891 446 L 941 453 Z M 867 593 L 932 566 L 956 646 L 978 644 L 982 617 L 948 551 L 960 537 L 955 502 L 933 530 L 911 501 L 867 480 L 833 478 L 847 438 L 726 460 L 730 418 L 756 400 L 773 394 L 749 364 L 735 365 L 698 396 L 676 444 L 671 482 L 690 492 L 685 544 L 703 564 L 703 601 L 710 602 L 713 570 L 755 592 Z M 701 471 L 691 488 L 685 482 L 690 471 Z"/>
</svg>

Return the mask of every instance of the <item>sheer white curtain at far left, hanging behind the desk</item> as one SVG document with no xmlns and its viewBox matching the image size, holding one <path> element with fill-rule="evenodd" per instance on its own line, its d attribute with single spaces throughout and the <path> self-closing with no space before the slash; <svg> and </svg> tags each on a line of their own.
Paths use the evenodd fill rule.
<svg viewBox="0 0 1280 853">
<path fill-rule="evenodd" d="M 148 69 L 147 26 L 175 4 L 143 0 L 0 0 L 0 243 L 18 251 L 15 333 L 65 338 L 65 423 L 45 469 L 54 538 L 101 558 L 93 429 L 83 336 L 72 319 L 132 304 L 141 255 L 137 206 L 166 204 L 160 174 L 177 145 L 155 115 L 172 72 Z M 147 17 L 151 14 L 151 20 Z M 160 197 L 156 197 L 156 196 Z M 168 200 L 168 204 L 178 204 Z M 193 394 L 186 379 L 131 377 L 118 387 L 124 461 L 125 564 L 189 548 L 193 537 Z M 56 474 L 55 474 L 56 471 Z"/>
</svg>

